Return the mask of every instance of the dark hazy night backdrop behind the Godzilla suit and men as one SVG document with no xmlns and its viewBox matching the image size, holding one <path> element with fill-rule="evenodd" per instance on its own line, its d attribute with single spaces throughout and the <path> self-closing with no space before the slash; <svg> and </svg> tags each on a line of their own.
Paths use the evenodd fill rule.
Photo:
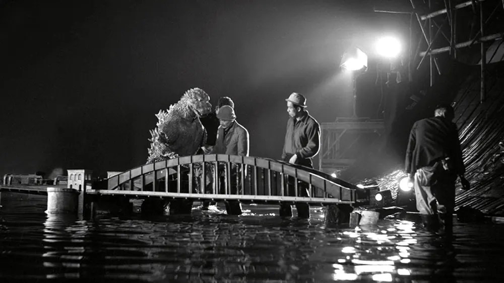
<svg viewBox="0 0 504 283">
<path fill-rule="evenodd" d="M 279 158 L 284 99 L 304 94 L 319 122 L 350 116 L 343 52 L 358 45 L 372 60 L 375 37 L 405 28 L 368 1 L 0 5 L 0 174 L 144 164 L 154 114 L 194 87 L 212 105 L 234 100 L 251 156 Z M 372 70 L 359 78 L 359 116 L 380 103 Z"/>
</svg>

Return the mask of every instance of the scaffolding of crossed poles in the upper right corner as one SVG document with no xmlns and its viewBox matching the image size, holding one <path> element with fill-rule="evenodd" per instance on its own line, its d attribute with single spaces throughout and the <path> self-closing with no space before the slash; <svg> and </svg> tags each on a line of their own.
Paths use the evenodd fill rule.
<svg viewBox="0 0 504 283">
<path fill-rule="evenodd" d="M 434 1 L 432 0 L 409 0 L 412 10 L 403 9 L 383 9 L 376 8 L 375 12 L 380 13 L 393 13 L 393 14 L 410 14 L 410 80 L 412 80 L 413 65 L 419 58 L 419 62 L 416 65 L 416 70 L 420 69 L 425 61 L 429 62 L 430 69 L 430 86 L 432 87 L 436 76 L 442 74 L 442 69 L 440 68 L 439 62 L 436 55 L 449 52 L 452 58 L 458 58 L 458 50 L 465 47 L 470 47 L 475 44 L 480 45 L 480 55 L 481 55 L 481 72 L 480 72 L 480 102 L 483 103 L 486 98 L 486 80 L 485 80 L 485 70 L 487 60 L 487 42 L 492 42 L 494 40 L 504 38 L 504 29 L 498 26 L 498 29 L 493 29 L 487 31 L 489 23 L 492 20 L 498 19 L 499 15 L 502 16 L 504 13 L 504 0 L 470 0 L 465 2 L 455 1 L 455 0 L 444 0 L 443 2 L 436 2 L 436 4 L 441 3 L 444 7 L 436 6 L 434 7 Z M 466 19 L 460 19 L 457 15 L 466 12 L 465 10 L 472 10 L 472 24 L 473 26 L 479 26 L 479 31 L 472 35 L 471 32 L 466 33 L 465 30 L 461 31 L 462 25 L 467 24 Z M 491 10 L 490 10 L 491 9 Z M 425 13 L 425 11 L 427 11 Z M 488 13 L 491 11 L 491 13 Z M 416 19 L 416 21 L 414 20 Z M 416 52 L 412 52 L 412 43 L 414 37 L 414 25 L 416 22 L 420 28 L 421 35 L 418 40 L 418 47 Z M 416 24 L 415 24 L 416 26 Z M 472 28 L 472 26 L 471 26 Z M 467 36 L 468 38 L 462 39 L 459 37 Z M 459 37 L 458 37 L 459 36 Z M 420 51 L 420 46 L 422 43 L 427 45 L 427 48 Z M 427 60 L 428 59 L 428 60 Z M 491 59 L 490 59 L 491 60 Z M 436 73 L 438 75 L 436 75 Z"/>
</svg>

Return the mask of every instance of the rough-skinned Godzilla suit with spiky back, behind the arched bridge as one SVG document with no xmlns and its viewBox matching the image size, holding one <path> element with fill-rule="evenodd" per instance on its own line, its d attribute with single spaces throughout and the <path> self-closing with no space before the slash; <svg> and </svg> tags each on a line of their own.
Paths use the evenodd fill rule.
<svg viewBox="0 0 504 283">
<path fill-rule="evenodd" d="M 205 145 L 206 131 L 200 117 L 212 111 L 208 94 L 199 88 L 186 91 L 168 110 L 156 114 L 156 128 L 150 131 L 147 163 L 194 155 Z"/>
</svg>

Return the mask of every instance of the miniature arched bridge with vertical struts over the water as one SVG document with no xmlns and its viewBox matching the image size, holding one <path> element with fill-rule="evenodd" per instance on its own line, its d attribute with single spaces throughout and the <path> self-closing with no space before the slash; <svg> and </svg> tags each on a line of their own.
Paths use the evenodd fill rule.
<svg viewBox="0 0 504 283">
<path fill-rule="evenodd" d="M 307 190 L 307 194 L 299 193 L 301 189 Z M 101 186 L 93 185 L 86 193 L 137 198 L 352 204 L 356 200 L 356 189 L 353 184 L 307 167 L 272 159 L 218 154 L 146 164 L 110 177 Z"/>
</svg>

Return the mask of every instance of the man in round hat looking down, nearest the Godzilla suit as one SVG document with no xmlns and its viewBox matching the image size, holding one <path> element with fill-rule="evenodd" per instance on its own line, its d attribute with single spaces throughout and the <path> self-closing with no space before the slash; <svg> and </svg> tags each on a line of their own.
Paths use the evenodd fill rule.
<svg viewBox="0 0 504 283">
<path fill-rule="evenodd" d="M 217 130 L 217 141 L 212 154 L 248 156 L 248 131 L 236 122 L 234 109 L 229 105 L 220 107 L 217 111 L 217 118 L 219 118 L 220 126 Z M 238 176 L 237 167 L 232 166 L 230 175 L 231 186 L 227 192 L 228 194 L 236 194 L 238 192 L 240 184 Z M 224 180 L 220 183 L 223 185 Z M 221 193 L 224 192 L 221 191 Z M 226 201 L 226 210 L 228 214 L 240 215 L 241 205 L 236 200 Z"/>
</svg>

